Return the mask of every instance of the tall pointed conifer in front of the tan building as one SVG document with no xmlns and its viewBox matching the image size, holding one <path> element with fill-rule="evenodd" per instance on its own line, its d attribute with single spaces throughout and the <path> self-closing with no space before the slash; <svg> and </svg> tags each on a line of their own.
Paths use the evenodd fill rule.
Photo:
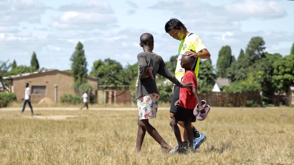
<svg viewBox="0 0 294 165">
<path fill-rule="evenodd" d="M 74 90 L 76 94 L 80 94 L 78 87 L 83 83 L 87 82 L 87 61 L 85 57 L 85 51 L 83 50 L 83 45 L 81 42 L 78 42 L 75 47 L 74 53 L 71 55 L 71 75 L 74 77 Z"/>
</svg>

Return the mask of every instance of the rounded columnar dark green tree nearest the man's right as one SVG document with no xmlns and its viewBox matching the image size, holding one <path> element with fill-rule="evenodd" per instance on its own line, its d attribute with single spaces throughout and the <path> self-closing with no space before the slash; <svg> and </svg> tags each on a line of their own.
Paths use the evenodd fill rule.
<svg viewBox="0 0 294 165">
<path fill-rule="evenodd" d="M 226 70 L 231 66 L 232 53 L 230 46 L 223 46 L 219 51 L 219 58 L 217 59 L 216 69 L 218 77 L 226 77 Z"/>
</svg>

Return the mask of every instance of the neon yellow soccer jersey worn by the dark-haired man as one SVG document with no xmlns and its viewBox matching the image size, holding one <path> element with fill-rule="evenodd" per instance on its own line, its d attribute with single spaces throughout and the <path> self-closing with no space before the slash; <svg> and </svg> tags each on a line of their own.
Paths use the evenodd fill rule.
<svg viewBox="0 0 294 165">
<path fill-rule="evenodd" d="M 178 56 L 178 62 L 175 70 L 175 76 L 181 82 L 182 77 L 185 74 L 185 69 L 181 67 L 181 57 L 185 54 L 187 51 L 193 51 L 193 52 L 200 52 L 202 49 L 206 49 L 204 44 L 202 43 L 200 37 L 196 34 L 189 33 L 185 39 L 181 41 L 181 44 L 179 46 L 179 56 Z M 194 66 L 192 70 L 195 72 L 196 78 L 198 77 L 198 69 L 199 69 L 199 62 L 200 58 L 196 58 L 194 62 Z"/>
</svg>

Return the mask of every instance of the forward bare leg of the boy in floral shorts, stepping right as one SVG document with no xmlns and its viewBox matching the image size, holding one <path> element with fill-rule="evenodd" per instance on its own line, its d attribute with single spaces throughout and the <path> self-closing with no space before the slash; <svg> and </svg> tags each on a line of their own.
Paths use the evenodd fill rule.
<svg viewBox="0 0 294 165">
<path fill-rule="evenodd" d="M 167 144 L 166 141 L 160 136 L 157 130 L 151 126 L 148 119 L 139 120 L 139 123 L 141 127 L 145 128 L 148 134 L 150 134 L 151 137 L 154 138 L 161 145 L 161 152 L 163 154 L 168 153 L 172 149 L 171 146 Z"/>
</svg>

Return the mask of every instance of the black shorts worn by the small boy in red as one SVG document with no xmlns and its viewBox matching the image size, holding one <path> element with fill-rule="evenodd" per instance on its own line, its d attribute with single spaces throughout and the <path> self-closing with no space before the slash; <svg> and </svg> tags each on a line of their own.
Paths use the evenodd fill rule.
<svg viewBox="0 0 294 165">
<path fill-rule="evenodd" d="M 196 116 L 194 116 L 193 110 L 194 109 L 177 107 L 177 111 L 174 113 L 174 117 L 172 119 L 187 123 L 196 122 Z"/>
</svg>

